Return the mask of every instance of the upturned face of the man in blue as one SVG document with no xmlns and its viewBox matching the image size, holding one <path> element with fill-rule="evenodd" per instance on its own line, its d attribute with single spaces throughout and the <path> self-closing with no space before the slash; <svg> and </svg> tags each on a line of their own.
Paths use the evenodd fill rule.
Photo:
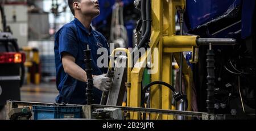
<svg viewBox="0 0 256 131">
<path fill-rule="evenodd" d="M 81 13 L 90 15 L 93 18 L 100 15 L 100 5 L 98 0 L 81 0 L 79 2 Z"/>
</svg>

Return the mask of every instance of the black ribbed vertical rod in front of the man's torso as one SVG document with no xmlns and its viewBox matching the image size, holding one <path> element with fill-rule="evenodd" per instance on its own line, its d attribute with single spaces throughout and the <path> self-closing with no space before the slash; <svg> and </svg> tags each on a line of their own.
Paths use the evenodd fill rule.
<svg viewBox="0 0 256 131">
<path fill-rule="evenodd" d="M 90 57 L 90 48 L 89 45 L 87 45 L 87 49 L 84 50 L 85 53 L 85 72 L 87 75 L 87 87 L 86 87 L 86 100 L 87 104 L 93 104 L 93 94 L 92 94 L 92 89 L 93 89 L 93 78 L 92 78 L 92 58 Z"/>
</svg>

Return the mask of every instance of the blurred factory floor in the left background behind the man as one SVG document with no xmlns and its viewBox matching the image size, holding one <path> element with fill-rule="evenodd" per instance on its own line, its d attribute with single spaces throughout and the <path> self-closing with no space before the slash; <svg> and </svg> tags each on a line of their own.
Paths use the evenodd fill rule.
<svg viewBox="0 0 256 131">
<path fill-rule="evenodd" d="M 56 89 L 56 83 L 40 83 L 25 84 L 20 88 L 21 101 L 25 102 L 42 102 L 42 103 L 55 103 L 55 98 L 59 94 Z M 6 109 L 0 111 L 0 120 L 6 117 Z"/>
</svg>

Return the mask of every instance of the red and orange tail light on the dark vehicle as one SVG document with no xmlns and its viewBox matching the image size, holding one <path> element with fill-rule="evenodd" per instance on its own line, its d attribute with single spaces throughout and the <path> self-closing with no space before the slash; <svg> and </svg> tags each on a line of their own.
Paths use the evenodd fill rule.
<svg viewBox="0 0 256 131">
<path fill-rule="evenodd" d="M 19 64 L 26 61 L 24 53 L 8 52 L 0 53 L 0 64 Z"/>
</svg>

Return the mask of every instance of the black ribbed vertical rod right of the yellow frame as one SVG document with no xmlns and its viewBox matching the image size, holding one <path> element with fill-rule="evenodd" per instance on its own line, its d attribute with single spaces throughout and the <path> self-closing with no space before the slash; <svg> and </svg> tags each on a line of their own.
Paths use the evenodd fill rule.
<svg viewBox="0 0 256 131">
<path fill-rule="evenodd" d="M 212 49 L 212 44 L 209 44 L 209 49 L 207 50 L 207 109 L 208 113 L 214 113 L 214 50 Z"/>
</svg>

